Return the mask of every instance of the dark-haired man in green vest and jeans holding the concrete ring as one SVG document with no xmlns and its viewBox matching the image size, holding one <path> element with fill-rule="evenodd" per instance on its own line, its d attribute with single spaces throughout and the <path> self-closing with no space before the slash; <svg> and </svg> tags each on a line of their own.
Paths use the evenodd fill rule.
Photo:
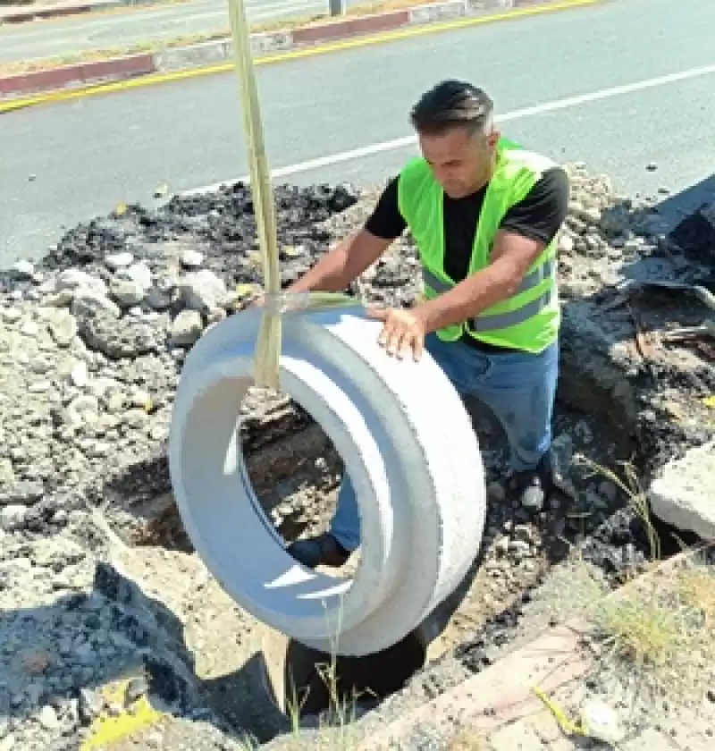
<svg viewBox="0 0 715 751">
<path fill-rule="evenodd" d="M 556 246 L 568 176 L 501 139 L 483 90 L 446 80 L 411 113 L 422 156 L 384 190 L 365 226 L 291 287 L 341 291 L 406 229 L 422 260 L 425 301 L 370 309 L 379 342 L 398 358 L 426 348 L 458 392 L 490 407 L 510 446 L 509 488 L 540 509 L 551 479 L 551 413 L 559 364 Z M 429 395 L 425 394 L 425 399 Z M 289 552 L 304 565 L 341 566 L 360 541 L 345 477 L 330 531 Z"/>
</svg>

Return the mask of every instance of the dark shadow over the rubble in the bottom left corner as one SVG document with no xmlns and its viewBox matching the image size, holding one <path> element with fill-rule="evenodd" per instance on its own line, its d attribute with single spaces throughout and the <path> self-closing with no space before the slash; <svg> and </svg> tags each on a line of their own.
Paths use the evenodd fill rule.
<svg viewBox="0 0 715 751">
<path fill-rule="evenodd" d="M 5 610 L 0 632 L 14 646 L 3 671 L 0 721 L 21 721 L 52 705 L 66 740 L 53 748 L 76 748 L 72 728 L 88 727 L 102 713 L 131 713 L 142 697 L 163 713 L 202 716 L 202 687 L 181 622 L 107 562 L 97 562 L 87 592 Z M 127 682 L 127 693 L 105 694 L 117 681 Z"/>
</svg>

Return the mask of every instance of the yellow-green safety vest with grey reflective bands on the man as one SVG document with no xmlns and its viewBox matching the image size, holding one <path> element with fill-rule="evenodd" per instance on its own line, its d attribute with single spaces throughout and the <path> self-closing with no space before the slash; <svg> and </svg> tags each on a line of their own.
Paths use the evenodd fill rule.
<svg viewBox="0 0 715 751">
<path fill-rule="evenodd" d="M 526 197 L 544 171 L 555 166 L 546 156 L 520 148 L 507 139 L 500 140 L 496 169 L 476 225 L 468 274 L 489 264 L 492 242 L 504 215 Z M 400 214 L 419 252 L 427 300 L 449 291 L 455 284 L 444 271 L 442 200 L 442 186 L 434 179 L 425 159 L 417 156 L 410 160 L 400 172 L 398 201 Z M 536 258 L 508 300 L 492 305 L 464 323 L 445 326 L 437 331 L 437 336 L 443 342 L 455 342 L 467 333 L 487 344 L 533 353 L 548 347 L 557 339 L 560 325 L 557 238 Z"/>
</svg>

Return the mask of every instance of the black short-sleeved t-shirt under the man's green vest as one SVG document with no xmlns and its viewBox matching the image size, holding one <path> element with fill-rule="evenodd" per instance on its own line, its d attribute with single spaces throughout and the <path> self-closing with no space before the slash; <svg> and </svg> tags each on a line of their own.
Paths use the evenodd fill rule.
<svg viewBox="0 0 715 751">
<path fill-rule="evenodd" d="M 365 224 L 368 232 L 384 240 L 395 240 L 407 228 L 398 204 L 399 179 L 395 177 L 388 183 Z M 444 196 L 444 270 L 455 283 L 467 276 L 485 193 L 486 187 L 466 198 Z M 554 167 L 543 173 L 526 198 L 509 209 L 500 227 L 548 245 L 559 232 L 567 210 L 568 175 Z"/>
</svg>

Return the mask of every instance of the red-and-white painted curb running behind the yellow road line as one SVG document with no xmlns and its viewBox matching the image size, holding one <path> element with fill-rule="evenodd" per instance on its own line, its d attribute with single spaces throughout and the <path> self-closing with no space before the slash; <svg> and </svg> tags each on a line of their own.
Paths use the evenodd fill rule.
<svg viewBox="0 0 715 751">
<path fill-rule="evenodd" d="M 115 4 L 124 4 L 113 0 Z M 293 30 L 258 32 L 251 35 L 253 54 L 276 55 L 340 39 L 365 37 L 384 31 L 438 21 L 450 21 L 476 13 L 499 12 L 517 7 L 548 5 L 551 0 L 445 0 L 400 11 L 374 13 L 341 21 L 304 26 Z M 103 7 L 106 4 L 102 4 Z M 80 7 L 80 6 L 77 6 Z M 81 7 L 91 7 L 82 5 Z M 186 71 L 233 59 L 231 39 L 215 39 L 196 45 L 169 47 L 156 53 L 125 55 L 109 60 L 74 63 L 36 72 L 0 78 L 0 102 L 4 99 L 38 95 L 91 84 L 121 81 L 151 73 Z"/>
</svg>

